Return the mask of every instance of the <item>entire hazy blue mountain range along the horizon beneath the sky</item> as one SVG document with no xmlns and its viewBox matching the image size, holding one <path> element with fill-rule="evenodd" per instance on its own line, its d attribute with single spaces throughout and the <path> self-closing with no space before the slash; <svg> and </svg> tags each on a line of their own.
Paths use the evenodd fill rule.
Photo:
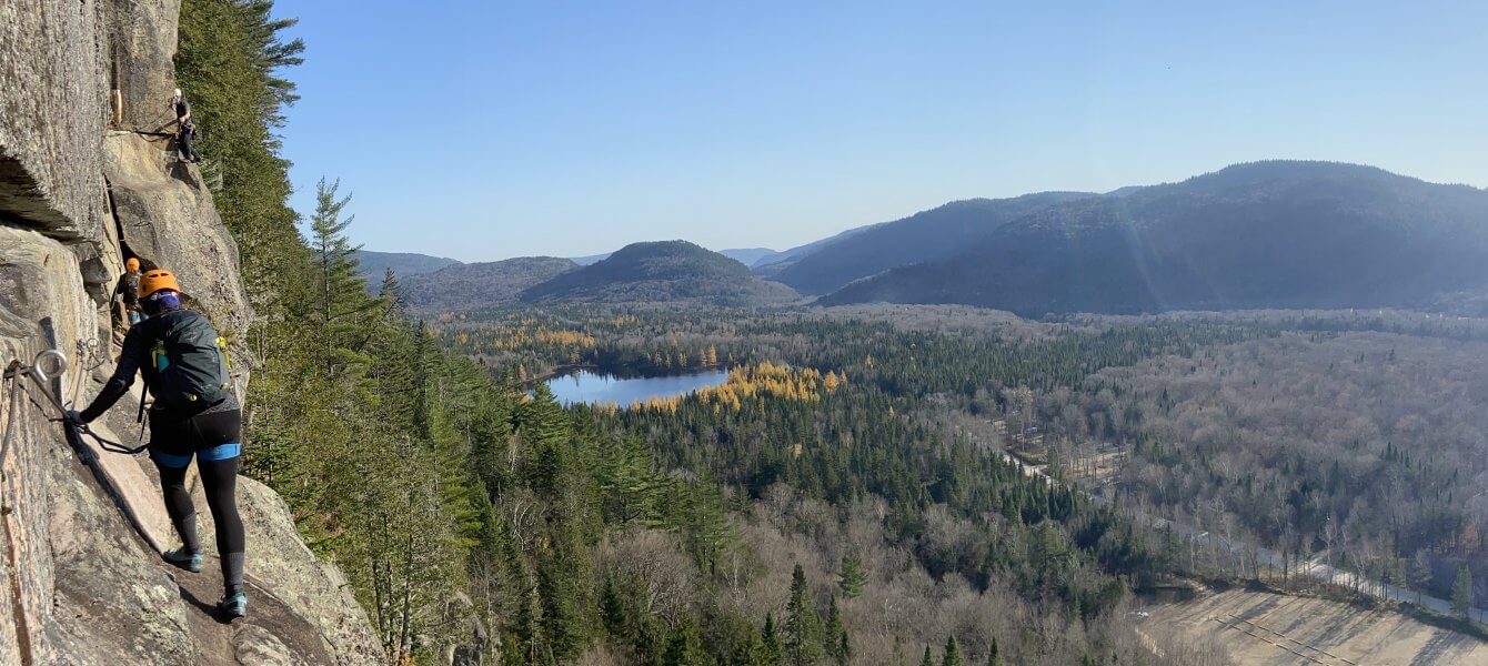
<svg viewBox="0 0 1488 666">
<path fill-rule="evenodd" d="M 795 302 L 792 288 L 820 305 L 966 303 L 1031 317 L 1434 308 L 1488 300 L 1488 190 L 1271 161 L 1104 195 L 957 201 L 780 253 L 667 241 L 473 265 L 359 254 L 369 278 L 393 268 L 426 309 L 768 305 Z M 440 287 L 429 290 L 434 279 Z"/>
</svg>

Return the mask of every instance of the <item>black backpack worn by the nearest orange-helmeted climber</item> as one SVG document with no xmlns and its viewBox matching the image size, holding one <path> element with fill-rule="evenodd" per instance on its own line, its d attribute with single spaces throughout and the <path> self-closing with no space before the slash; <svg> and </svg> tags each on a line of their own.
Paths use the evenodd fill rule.
<svg viewBox="0 0 1488 666">
<path fill-rule="evenodd" d="M 228 397 L 232 391 L 228 352 L 205 315 L 179 309 L 141 324 L 149 326 L 146 340 L 152 340 L 150 358 L 141 370 L 156 409 L 195 410 Z"/>
</svg>

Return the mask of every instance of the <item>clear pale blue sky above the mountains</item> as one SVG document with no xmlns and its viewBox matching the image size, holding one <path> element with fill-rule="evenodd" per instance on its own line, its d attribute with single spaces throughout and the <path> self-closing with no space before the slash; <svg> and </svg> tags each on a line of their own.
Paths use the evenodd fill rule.
<svg viewBox="0 0 1488 666">
<path fill-rule="evenodd" d="M 1266 158 L 1488 186 L 1488 3 L 278 0 L 369 250 L 783 250 Z"/>
</svg>

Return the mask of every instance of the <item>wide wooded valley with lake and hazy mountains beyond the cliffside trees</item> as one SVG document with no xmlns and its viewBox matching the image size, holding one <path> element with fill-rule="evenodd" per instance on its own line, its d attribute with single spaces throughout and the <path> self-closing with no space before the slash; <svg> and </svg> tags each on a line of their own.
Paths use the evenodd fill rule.
<svg viewBox="0 0 1488 666">
<path fill-rule="evenodd" d="M 595 575 L 623 607 L 677 584 L 631 559 L 686 553 L 690 592 L 674 595 L 692 601 L 659 618 L 704 644 L 744 639 L 719 614 L 769 642 L 775 612 L 809 599 L 835 617 L 812 641 L 839 663 L 906 663 L 906 641 L 952 636 L 970 659 L 995 639 L 1006 663 L 1048 665 L 1366 650 L 1277 610 L 1295 604 L 1405 632 L 1399 663 L 1466 665 L 1488 638 L 1482 220 L 1470 187 L 1256 162 L 960 201 L 780 253 L 430 257 L 382 288 L 437 346 L 567 413 L 592 447 L 573 455 L 634 465 L 594 479 Z M 607 394 L 606 375 L 655 379 Z M 690 514 L 667 508 L 676 488 Z M 540 529 L 510 505 L 527 501 L 493 497 L 518 535 Z M 881 607 L 832 587 L 847 559 L 894 590 Z M 783 578 L 796 566 L 805 581 Z M 1196 592 L 1149 605 L 1161 590 Z M 902 604 L 937 620 L 894 620 Z M 714 620 L 686 620 L 702 608 Z M 606 630 L 619 662 L 667 633 Z"/>
</svg>

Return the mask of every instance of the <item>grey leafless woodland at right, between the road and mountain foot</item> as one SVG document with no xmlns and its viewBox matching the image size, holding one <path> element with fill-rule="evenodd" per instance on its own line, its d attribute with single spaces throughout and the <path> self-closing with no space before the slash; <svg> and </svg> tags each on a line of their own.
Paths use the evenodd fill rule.
<svg viewBox="0 0 1488 666">
<path fill-rule="evenodd" d="M 1293 333 L 1103 370 L 1051 436 L 1125 443 L 1162 514 L 1448 598 L 1461 566 L 1488 580 L 1485 363 L 1481 339 Z"/>
</svg>

